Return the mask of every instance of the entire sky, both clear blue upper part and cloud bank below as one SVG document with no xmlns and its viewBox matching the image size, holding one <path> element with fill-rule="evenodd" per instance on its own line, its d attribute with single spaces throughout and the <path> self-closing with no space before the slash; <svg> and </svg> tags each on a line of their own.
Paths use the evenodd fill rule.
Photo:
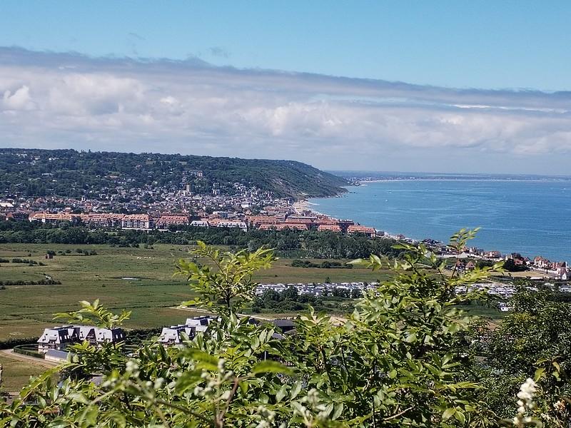
<svg viewBox="0 0 571 428">
<path fill-rule="evenodd" d="M 2 1 L 0 131 L 21 147 L 567 173 L 570 21 L 566 1 Z"/>
</svg>

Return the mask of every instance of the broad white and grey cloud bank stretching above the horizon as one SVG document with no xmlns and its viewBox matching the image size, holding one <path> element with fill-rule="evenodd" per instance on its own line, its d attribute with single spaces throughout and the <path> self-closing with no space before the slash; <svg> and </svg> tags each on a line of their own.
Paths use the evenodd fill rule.
<svg viewBox="0 0 571 428">
<path fill-rule="evenodd" d="M 0 48 L 5 147 L 565 173 L 571 93 L 417 86 Z"/>
</svg>

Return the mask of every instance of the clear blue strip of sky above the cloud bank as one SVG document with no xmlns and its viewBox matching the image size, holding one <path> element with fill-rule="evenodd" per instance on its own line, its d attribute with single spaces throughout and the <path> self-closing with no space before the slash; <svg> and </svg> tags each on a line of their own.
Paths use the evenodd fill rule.
<svg viewBox="0 0 571 428">
<path fill-rule="evenodd" d="M 3 46 L 570 90 L 569 1 L 2 1 Z"/>
</svg>

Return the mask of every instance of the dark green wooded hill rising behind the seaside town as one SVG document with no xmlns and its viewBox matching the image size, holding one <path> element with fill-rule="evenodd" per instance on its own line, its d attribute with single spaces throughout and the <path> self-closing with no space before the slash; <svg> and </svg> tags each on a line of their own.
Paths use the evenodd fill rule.
<svg viewBox="0 0 571 428">
<path fill-rule="evenodd" d="M 200 179 L 193 175 L 197 170 L 203 173 Z M 335 195 L 348 184 L 295 161 L 0 148 L 0 195 L 78 197 L 118 185 L 177 189 L 183 183 L 191 183 L 196 193 L 209 193 L 213 185 L 226 193 L 233 183 L 242 183 L 293 198 Z"/>
</svg>

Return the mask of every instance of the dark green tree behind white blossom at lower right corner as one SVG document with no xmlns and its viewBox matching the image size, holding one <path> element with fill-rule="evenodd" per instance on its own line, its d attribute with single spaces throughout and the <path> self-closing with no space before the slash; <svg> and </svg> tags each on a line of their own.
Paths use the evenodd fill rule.
<svg viewBox="0 0 571 428">
<path fill-rule="evenodd" d="M 502 417 L 507 417 L 510 396 L 520 384 L 535 379 L 542 394 L 532 414 L 544 415 L 546 426 L 569 427 L 571 305 L 552 297 L 551 290 L 536 291 L 525 282 L 517 285 L 510 313 L 490 333 L 487 370 L 480 377 L 489 390 L 486 399 Z"/>
</svg>

